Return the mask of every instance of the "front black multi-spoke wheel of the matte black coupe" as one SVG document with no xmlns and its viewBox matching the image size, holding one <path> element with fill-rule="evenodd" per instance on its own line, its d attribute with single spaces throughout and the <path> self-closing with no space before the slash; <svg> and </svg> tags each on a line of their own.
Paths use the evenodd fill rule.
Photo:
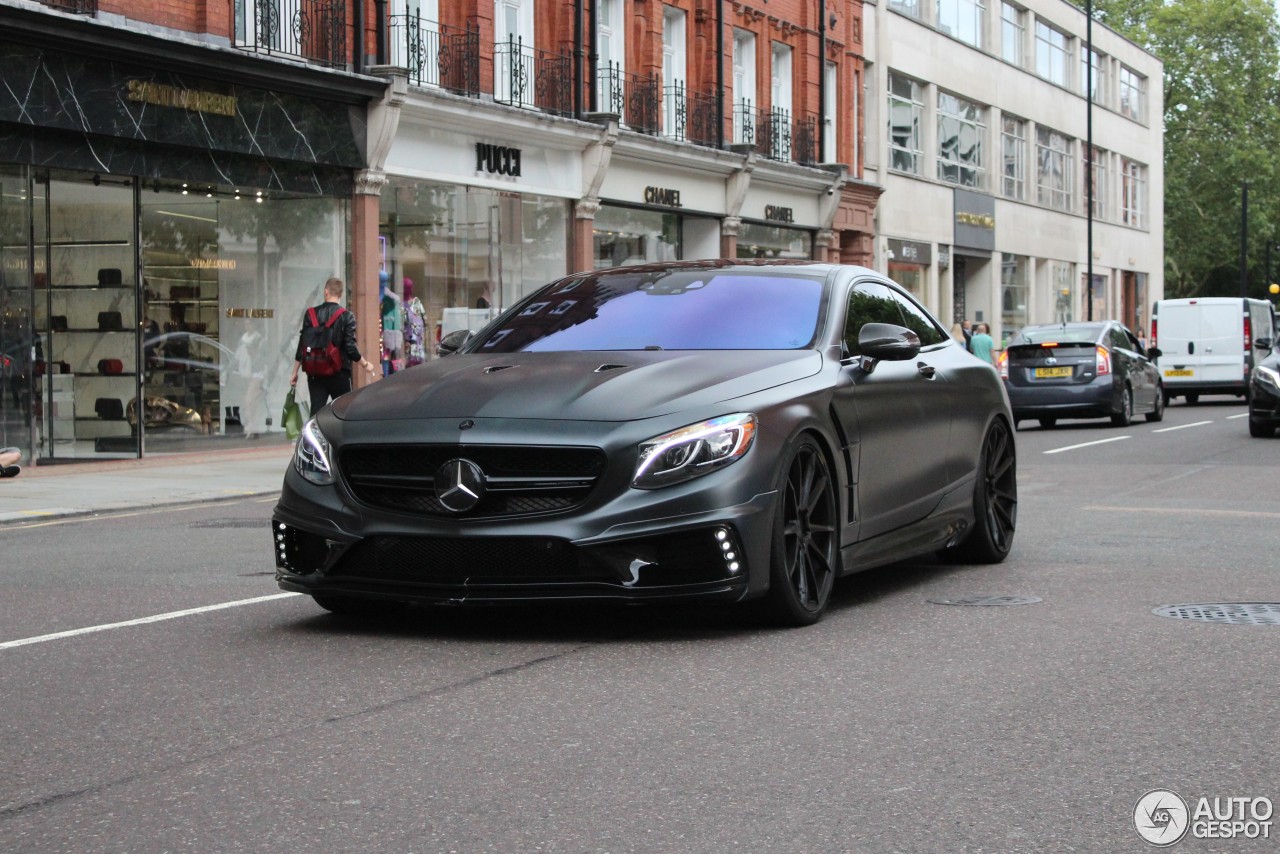
<svg viewBox="0 0 1280 854">
<path fill-rule="evenodd" d="M 781 474 L 768 609 L 783 625 L 808 626 L 822 618 L 836 580 L 836 485 L 822 448 L 809 437 L 800 439 Z"/>
</svg>

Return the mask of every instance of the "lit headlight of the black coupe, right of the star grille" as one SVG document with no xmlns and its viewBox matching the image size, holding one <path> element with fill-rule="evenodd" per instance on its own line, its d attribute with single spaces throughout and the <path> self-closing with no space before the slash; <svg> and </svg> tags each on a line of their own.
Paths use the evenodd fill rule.
<svg viewBox="0 0 1280 854">
<path fill-rule="evenodd" d="M 640 443 L 631 485 L 657 489 L 692 480 L 741 460 L 755 440 L 755 416 L 723 415 Z"/>
</svg>

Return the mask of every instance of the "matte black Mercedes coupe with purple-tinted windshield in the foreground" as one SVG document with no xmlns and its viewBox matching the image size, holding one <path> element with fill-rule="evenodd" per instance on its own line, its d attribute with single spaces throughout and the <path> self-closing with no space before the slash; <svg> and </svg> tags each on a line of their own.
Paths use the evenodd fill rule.
<svg viewBox="0 0 1280 854">
<path fill-rule="evenodd" d="M 582 273 L 307 423 L 275 577 L 339 613 L 760 599 L 804 625 L 847 572 L 1002 561 L 1015 469 L 995 367 L 872 270 Z"/>
</svg>

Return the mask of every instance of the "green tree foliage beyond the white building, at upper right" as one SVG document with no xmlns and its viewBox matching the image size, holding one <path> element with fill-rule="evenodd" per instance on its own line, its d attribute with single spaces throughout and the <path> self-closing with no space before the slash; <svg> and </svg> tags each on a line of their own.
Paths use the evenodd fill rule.
<svg viewBox="0 0 1280 854">
<path fill-rule="evenodd" d="M 1271 0 L 1094 0 L 1093 14 L 1165 64 L 1165 294 L 1239 293 L 1248 182 L 1249 296 L 1265 296 L 1268 242 L 1280 268 Z"/>
</svg>

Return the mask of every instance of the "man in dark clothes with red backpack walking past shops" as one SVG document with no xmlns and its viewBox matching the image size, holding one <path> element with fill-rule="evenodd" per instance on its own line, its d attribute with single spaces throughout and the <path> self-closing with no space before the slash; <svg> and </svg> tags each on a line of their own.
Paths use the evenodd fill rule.
<svg viewBox="0 0 1280 854">
<path fill-rule="evenodd" d="M 324 283 L 324 302 L 307 309 L 302 316 L 289 387 L 298 384 L 300 370 L 307 375 L 311 415 L 351 391 L 352 365 L 374 373 L 372 362 L 361 356 L 356 346 L 356 315 L 342 306 L 344 289 L 342 279 L 329 278 Z"/>
</svg>

